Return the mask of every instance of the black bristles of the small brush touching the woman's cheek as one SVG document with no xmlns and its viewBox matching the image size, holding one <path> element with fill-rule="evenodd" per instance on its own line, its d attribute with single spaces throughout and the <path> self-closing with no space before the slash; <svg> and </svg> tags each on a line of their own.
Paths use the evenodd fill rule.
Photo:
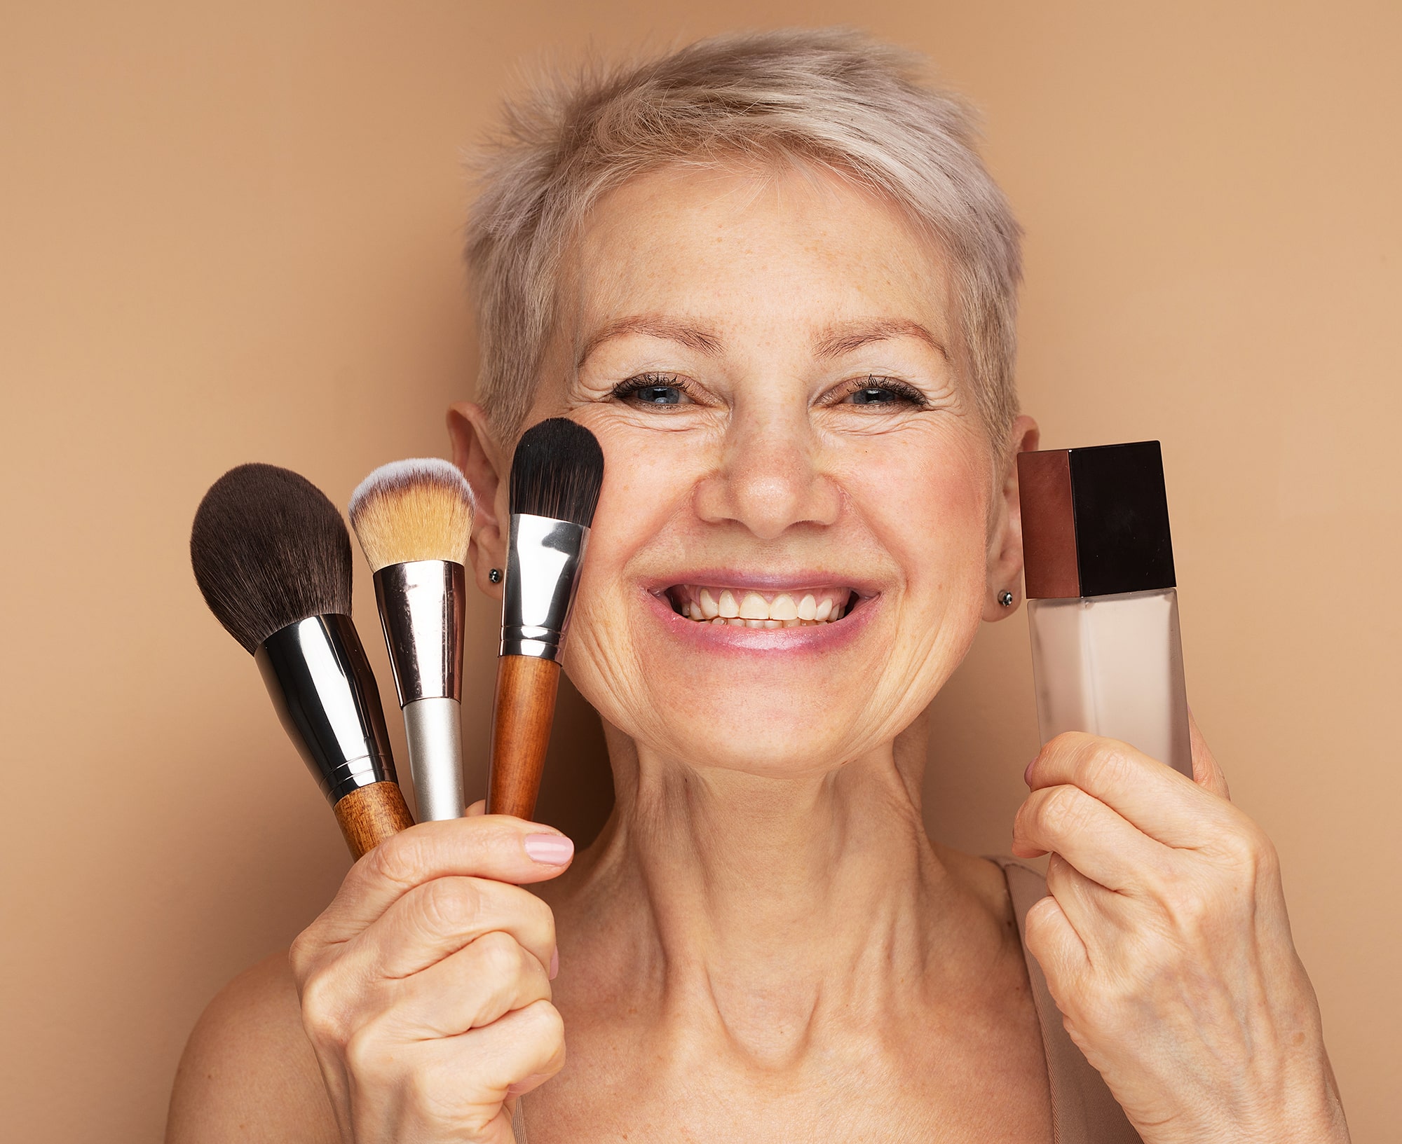
<svg viewBox="0 0 1402 1144">
<path fill-rule="evenodd" d="M 604 482 L 599 439 L 568 418 L 527 429 L 512 457 L 512 512 L 589 527 Z"/>
</svg>

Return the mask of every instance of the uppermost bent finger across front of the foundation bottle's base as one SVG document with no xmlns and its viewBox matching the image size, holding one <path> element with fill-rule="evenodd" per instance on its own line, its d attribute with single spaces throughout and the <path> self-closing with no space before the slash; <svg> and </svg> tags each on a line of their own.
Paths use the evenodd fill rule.
<svg viewBox="0 0 1402 1144">
<path fill-rule="evenodd" d="M 1094 795 L 1151 838 L 1197 847 L 1232 826 L 1231 805 L 1129 743 L 1081 732 L 1047 742 L 1028 767 L 1028 785 L 1071 785 Z"/>
</svg>

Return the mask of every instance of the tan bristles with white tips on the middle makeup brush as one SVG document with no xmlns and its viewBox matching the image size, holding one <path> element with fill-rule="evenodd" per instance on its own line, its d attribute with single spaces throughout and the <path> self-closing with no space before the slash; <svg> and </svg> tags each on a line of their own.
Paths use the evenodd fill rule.
<svg viewBox="0 0 1402 1144">
<path fill-rule="evenodd" d="M 372 572 L 416 559 L 465 566 L 472 491 L 457 467 L 439 457 L 391 461 L 350 496 L 350 527 Z"/>
</svg>

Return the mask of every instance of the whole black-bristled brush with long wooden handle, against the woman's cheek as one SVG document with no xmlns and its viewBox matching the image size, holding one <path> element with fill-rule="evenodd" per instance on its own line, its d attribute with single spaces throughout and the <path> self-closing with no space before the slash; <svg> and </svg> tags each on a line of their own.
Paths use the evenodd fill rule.
<svg viewBox="0 0 1402 1144">
<path fill-rule="evenodd" d="M 512 457 L 489 815 L 529 819 L 536 812 L 555 718 L 559 651 L 603 479 L 604 454 L 594 435 L 565 418 L 533 425 Z"/>
</svg>

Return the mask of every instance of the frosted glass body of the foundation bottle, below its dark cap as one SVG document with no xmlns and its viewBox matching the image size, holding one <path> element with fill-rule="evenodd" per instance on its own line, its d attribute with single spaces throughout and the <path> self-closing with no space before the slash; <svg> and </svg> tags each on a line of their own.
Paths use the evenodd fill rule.
<svg viewBox="0 0 1402 1144">
<path fill-rule="evenodd" d="M 1042 742 L 1085 730 L 1192 777 L 1178 590 L 1029 600 Z"/>
</svg>

